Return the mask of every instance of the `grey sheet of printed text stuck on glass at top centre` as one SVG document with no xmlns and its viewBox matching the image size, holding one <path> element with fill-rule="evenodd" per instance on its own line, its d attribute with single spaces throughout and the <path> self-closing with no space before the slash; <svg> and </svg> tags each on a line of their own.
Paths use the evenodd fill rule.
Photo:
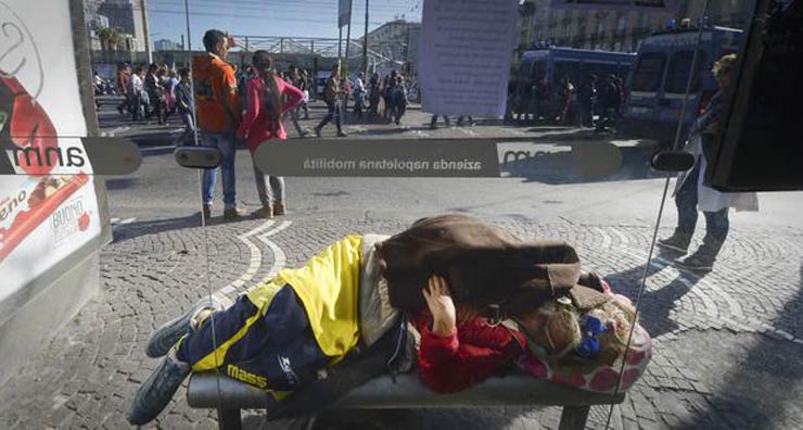
<svg viewBox="0 0 803 430">
<path fill-rule="evenodd" d="M 502 116 L 517 46 L 517 0 L 428 0 L 421 29 L 421 110 Z"/>
</svg>

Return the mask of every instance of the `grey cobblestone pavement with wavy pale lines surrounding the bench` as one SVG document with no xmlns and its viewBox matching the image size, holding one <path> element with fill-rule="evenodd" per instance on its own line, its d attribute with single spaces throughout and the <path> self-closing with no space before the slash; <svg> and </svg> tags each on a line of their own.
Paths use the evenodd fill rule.
<svg viewBox="0 0 803 430">
<path fill-rule="evenodd" d="M 216 224 L 206 232 L 190 220 L 169 230 L 148 223 L 122 227 L 102 253 L 102 291 L 0 390 L 0 428 L 127 427 L 132 393 L 157 363 L 143 352 L 150 331 L 208 293 L 208 286 L 241 291 L 271 267 L 297 266 L 345 233 L 394 232 L 412 219 L 292 215 L 268 225 Z M 586 268 L 607 274 L 632 298 L 638 293 L 649 227 L 489 220 L 523 238 L 568 240 Z M 205 239 L 208 274 L 200 264 Z M 802 239 L 800 231 L 735 229 L 716 269 L 704 277 L 659 256 L 641 302 L 657 355 L 615 408 L 613 427 L 803 428 Z M 602 428 L 606 413 L 595 408 L 591 427 Z M 318 428 L 551 429 L 558 420 L 557 408 L 335 412 Z M 266 425 L 258 413 L 245 422 L 282 425 Z M 214 414 L 187 406 L 183 389 L 156 425 L 216 427 Z"/>
</svg>

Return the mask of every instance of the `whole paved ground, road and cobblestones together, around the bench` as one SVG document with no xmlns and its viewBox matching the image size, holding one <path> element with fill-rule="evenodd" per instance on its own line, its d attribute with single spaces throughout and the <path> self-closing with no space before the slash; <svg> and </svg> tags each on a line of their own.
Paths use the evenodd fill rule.
<svg viewBox="0 0 803 430">
<path fill-rule="evenodd" d="M 315 106 L 311 114 L 303 122 L 309 128 L 322 110 Z M 532 137 L 532 143 L 518 144 L 547 148 L 549 157 L 494 179 L 288 178 L 288 216 L 222 223 L 218 205 L 202 228 L 199 175 L 178 167 L 169 148 L 178 125 L 131 126 L 104 105 L 104 131 L 135 138 L 143 164 L 109 180 L 115 239 L 102 252 L 101 289 L 0 389 L 0 428 L 127 428 L 130 399 L 157 364 L 144 355 L 153 328 L 203 294 L 237 294 L 346 233 L 393 233 L 421 216 L 466 213 L 522 238 L 566 240 L 586 269 L 606 275 L 635 300 L 665 185 L 647 167 L 654 147 L 564 127 L 476 121 L 474 127 L 433 131 L 429 116 L 411 110 L 400 127 L 349 124 L 346 131 L 360 139 Z M 572 156 L 595 143 L 617 148 L 623 165 L 583 179 Z M 241 150 L 238 200 L 255 210 L 250 164 Z M 647 268 L 640 319 L 657 355 L 613 408 L 611 428 L 803 429 L 803 193 L 764 193 L 760 200 L 759 213 L 731 213 L 730 237 L 712 273 L 679 270 L 662 254 Z M 667 200 L 660 235 L 675 223 Z M 607 414 L 592 408 L 589 426 L 604 428 Z M 559 416 L 553 407 L 333 412 L 316 428 L 555 429 Z M 209 429 L 215 419 L 213 412 L 191 409 L 181 389 L 155 425 Z M 258 412 L 248 413 L 245 423 L 286 425 L 266 423 Z"/>
</svg>

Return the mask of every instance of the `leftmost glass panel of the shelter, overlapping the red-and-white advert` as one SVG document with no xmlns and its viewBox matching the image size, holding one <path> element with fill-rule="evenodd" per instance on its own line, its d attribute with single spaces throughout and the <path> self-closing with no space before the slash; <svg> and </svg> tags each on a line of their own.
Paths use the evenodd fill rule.
<svg viewBox="0 0 803 430">
<path fill-rule="evenodd" d="M 149 28 L 148 3 L 164 2 L 0 2 L 4 429 L 130 427 L 137 390 L 164 383 L 148 355 L 184 327 L 154 329 L 207 294 L 199 174 L 174 157 L 194 144 L 189 51 Z M 162 426 L 186 427 L 171 409 Z"/>
</svg>

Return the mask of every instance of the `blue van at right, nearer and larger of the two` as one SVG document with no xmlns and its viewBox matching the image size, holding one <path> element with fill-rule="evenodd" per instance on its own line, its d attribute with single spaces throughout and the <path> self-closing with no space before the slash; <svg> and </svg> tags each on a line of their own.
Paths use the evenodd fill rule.
<svg viewBox="0 0 803 430">
<path fill-rule="evenodd" d="M 725 27 L 706 28 L 702 35 L 699 28 L 680 28 L 645 38 L 627 79 L 627 100 L 617 131 L 657 139 L 668 147 L 680 124 L 680 138 L 685 139 L 688 127 L 703 113 L 716 91 L 711 73 L 713 63 L 722 55 L 737 52 L 742 39 L 741 30 Z M 698 47 L 697 59 L 694 47 Z M 689 87 L 692 63 L 694 72 Z M 681 121 L 684 100 L 686 111 Z"/>
</svg>

